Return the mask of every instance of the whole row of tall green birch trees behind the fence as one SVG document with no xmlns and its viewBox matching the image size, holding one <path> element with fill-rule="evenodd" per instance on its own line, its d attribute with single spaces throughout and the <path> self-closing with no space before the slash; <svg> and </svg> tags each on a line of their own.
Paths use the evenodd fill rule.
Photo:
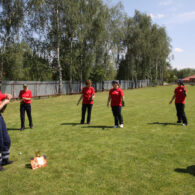
<svg viewBox="0 0 195 195">
<path fill-rule="evenodd" d="M 0 0 L 0 78 L 94 82 L 168 78 L 165 27 L 103 0 Z"/>
</svg>

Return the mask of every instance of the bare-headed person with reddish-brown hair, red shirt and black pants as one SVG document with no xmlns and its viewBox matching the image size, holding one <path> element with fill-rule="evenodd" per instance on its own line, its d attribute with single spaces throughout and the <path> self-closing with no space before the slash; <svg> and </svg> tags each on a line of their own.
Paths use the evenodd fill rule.
<svg viewBox="0 0 195 195">
<path fill-rule="evenodd" d="M 85 122 L 86 110 L 88 111 L 87 124 L 90 124 L 90 122 L 91 122 L 91 111 L 92 111 L 92 107 L 93 107 L 93 100 L 95 98 L 95 90 L 91 85 L 92 85 L 91 81 L 87 80 L 86 87 L 83 88 L 82 95 L 77 102 L 77 105 L 79 105 L 80 101 L 83 100 L 81 124 L 84 124 L 84 122 Z"/>
</svg>

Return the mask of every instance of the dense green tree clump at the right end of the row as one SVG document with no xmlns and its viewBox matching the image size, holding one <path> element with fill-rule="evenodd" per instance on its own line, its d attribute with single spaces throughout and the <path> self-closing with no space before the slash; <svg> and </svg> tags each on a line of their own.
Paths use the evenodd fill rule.
<svg viewBox="0 0 195 195">
<path fill-rule="evenodd" d="M 125 58 L 121 60 L 118 78 L 164 79 L 170 55 L 170 40 L 163 27 L 152 24 L 146 14 L 135 11 L 126 22 Z"/>
</svg>

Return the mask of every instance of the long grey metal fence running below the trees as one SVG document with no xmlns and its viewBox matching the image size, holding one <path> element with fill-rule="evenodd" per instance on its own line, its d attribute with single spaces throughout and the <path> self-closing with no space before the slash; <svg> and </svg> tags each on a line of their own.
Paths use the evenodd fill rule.
<svg viewBox="0 0 195 195">
<path fill-rule="evenodd" d="M 27 84 L 28 88 L 32 91 L 33 97 L 52 96 L 57 95 L 59 91 L 58 81 L 2 81 L 2 93 L 10 93 L 13 98 L 18 98 L 20 90 L 23 89 L 23 84 Z M 133 89 L 152 86 L 149 80 L 139 80 L 137 83 L 130 80 L 120 80 L 122 89 Z M 80 81 L 63 81 L 62 94 L 76 94 L 80 93 L 81 89 L 85 86 Z M 102 81 L 93 83 L 96 91 L 104 91 L 112 88 L 112 81 Z"/>
</svg>

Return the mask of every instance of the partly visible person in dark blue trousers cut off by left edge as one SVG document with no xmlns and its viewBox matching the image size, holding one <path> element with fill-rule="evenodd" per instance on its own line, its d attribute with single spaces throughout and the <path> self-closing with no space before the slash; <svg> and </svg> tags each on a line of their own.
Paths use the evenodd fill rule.
<svg viewBox="0 0 195 195">
<path fill-rule="evenodd" d="M 11 94 L 2 94 L 0 92 L 0 171 L 3 171 L 2 166 L 11 164 L 13 161 L 9 160 L 9 149 L 11 146 L 10 136 L 7 131 L 7 127 L 1 113 L 4 108 L 9 104 L 12 98 Z"/>
</svg>

